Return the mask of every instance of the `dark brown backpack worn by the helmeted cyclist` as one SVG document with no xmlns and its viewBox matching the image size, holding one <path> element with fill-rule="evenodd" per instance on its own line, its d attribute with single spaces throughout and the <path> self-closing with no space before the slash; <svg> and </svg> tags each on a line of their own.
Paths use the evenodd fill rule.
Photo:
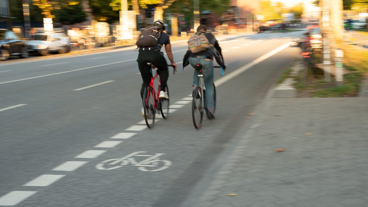
<svg viewBox="0 0 368 207">
<path fill-rule="evenodd" d="M 141 29 L 141 34 L 135 45 L 138 48 L 153 47 L 157 45 L 162 29 L 156 26 L 148 26 Z"/>
</svg>

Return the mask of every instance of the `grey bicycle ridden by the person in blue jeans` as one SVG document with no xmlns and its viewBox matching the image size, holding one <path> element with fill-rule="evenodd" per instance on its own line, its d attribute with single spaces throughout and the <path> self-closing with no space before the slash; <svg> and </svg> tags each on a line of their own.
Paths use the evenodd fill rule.
<svg viewBox="0 0 368 207">
<path fill-rule="evenodd" d="M 199 69 L 199 84 L 194 87 L 193 91 L 193 101 L 192 101 L 192 118 L 193 124 L 196 129 L 201 128 L 203 122 L 203 114 L 206 112 L 207 117 L 209 113 L 206 107 L 206 88 L 204 86 L 204 76 L 202 74 L 202 65 L 196 65 Z M 213 66 L 220 67 L 220 66 Z M 224 70 L 221 71 L 221 76 L 223 76 Z M 216 86 L 215 83 L 212 83 L 213 86 L 213 98 L 215 99 L 215 104 L 213 105 L 213 115 L 215 115 L 216 111 Z"/>
</svg>

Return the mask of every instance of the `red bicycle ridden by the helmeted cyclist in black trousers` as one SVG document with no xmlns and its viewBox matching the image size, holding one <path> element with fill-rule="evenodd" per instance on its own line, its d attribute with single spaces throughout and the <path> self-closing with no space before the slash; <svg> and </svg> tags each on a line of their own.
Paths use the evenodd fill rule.
<svg viewBox="0 0 368 207">
<path fill-rule="evenodd" d="M 147 65 L 151 66 L 151 81 L 149 85 L 145 88 L 143 93 L 143 109 L 144 109 L 144 120 L 146 121 L 146 125 L 148 128 L 153 127 L 155 124 L 155 115 L 156 113 L 161 113 L 162 117 L 166 119 L 169 116 L 169 106 L 170 106 L 170 95 L 169 95 L 169 87 L 166 85 L 164 91 L 167 92 L 168 99 L 159 98 L 159 94 L 161 91 L 161 81 L 160 74 L 157 73 L 157 68 L 153 66 L 151 62 L 147 62 Z M 174 68 L 172 65 L 168 65 Z M 175 68 L 173 74 L 175 74 Z M 153 76 L 153 73 L 156 72 L 156 75 Z M 158 91 L 155 92 L 155 79 L 159 80 Z"/>
</svg>

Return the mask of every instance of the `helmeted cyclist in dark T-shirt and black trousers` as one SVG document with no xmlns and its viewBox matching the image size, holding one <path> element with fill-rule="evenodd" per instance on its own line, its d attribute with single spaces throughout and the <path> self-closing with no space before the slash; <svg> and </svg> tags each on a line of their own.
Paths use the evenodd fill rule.
<svg viewBox="0 0 368 207">
<path fill-rule="evenodd" d="M 157 67 L 158 73 L 160 74 L 161 91 L 159 98 L 167 99 L 169 98 L 167 92 L 163 90 L 166 88 L 166 82 L 167 79 L 169 78 L 169 69 L 167 68 L 167 62 L 163 55 L 163 52 L 161 52 L 161 48 L 163 45 L 165 45 L 167 57 L 169 57 L 171 65 L 174 67 L 175 70 L 177 66 L 176 63 L 174 62 L 173 53 L 171 52 L 170 37 L 168 34 L 163 32 L 166 29 L 164 22 L 161 20 L 157 20 L 153 22 L 153 25 L 162 29 L 157 45 L 139 48 L 138 50 L 139 53 L 137 62 L 143 80 L 141 88 L 141 98 L 143 99 L 144 89 L 149 85 L 149 82 L 151 81 L 151 73 L 150 73 L 151 66 L 148 66 L 147 62 L 152 62 L 152 64 L 155 67 Z M 141 111 L 142 115 L 144 115 L 143 108 Z"/>
</svg>

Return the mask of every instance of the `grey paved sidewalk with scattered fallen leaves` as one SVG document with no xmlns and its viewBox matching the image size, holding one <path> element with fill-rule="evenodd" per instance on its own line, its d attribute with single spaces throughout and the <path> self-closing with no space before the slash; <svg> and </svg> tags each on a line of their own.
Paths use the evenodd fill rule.
<svg viewBox="0 0 368 207">
<path fill-rule="evenodd" d="M 368 206 L 368 98 L 269 98 L 251 117 L 197 207 Z"/>
</svg>

